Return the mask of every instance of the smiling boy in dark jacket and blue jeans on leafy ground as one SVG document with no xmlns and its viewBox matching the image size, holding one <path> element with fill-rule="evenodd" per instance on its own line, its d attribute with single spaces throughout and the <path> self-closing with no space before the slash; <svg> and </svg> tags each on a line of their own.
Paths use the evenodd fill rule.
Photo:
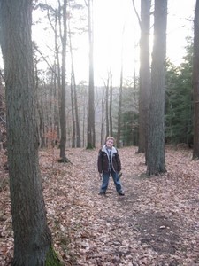
<svg viewBox="0 0 199 266">
<path fill-rule="evenodd" d="M 121 171 L 121 161 L 119 159 L 119 152 L 113 145 L 114 137 L 107 137 L 106 144 L 103 145 L 98 153 L 98 172 L 99 175 L 103 177 L 103 184 L 101 185 L 99 194 L 105 195 L 109 185 L 109 177 L 111 175 L 116 191 L 120 196 L 124 196 L 125 193 L 122 191 L 122 186 L 119 180 L 119 176 L 121 176 L 121 174 L 119 174 Z"/>
</svg>

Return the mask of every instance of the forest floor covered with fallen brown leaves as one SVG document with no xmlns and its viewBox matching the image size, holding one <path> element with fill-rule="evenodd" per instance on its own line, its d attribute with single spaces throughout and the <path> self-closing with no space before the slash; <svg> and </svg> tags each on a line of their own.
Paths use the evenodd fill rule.
<svg viewBox="0 0 199 266">
<path fill-rule="evenodd" d="M 98 195 L 97 149 L 67 150 L 67 164 L 57 162 L 57 149 L 40 152 L 48 222 L 65 265 L 199 265 L 199 161 L 191 150 L 166 147 L 167 172 L 146 177 L 136 150 L 119 149 L 124 197 L 112 180 Z M 0 174 L 0 265 L 7 266 L 13 234 L 8 173 Z"/>
</svg>

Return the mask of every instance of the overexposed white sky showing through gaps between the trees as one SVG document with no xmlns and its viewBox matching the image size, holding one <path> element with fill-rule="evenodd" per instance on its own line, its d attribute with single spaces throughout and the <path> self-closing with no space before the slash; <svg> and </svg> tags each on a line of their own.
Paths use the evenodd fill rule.
<svg viewBox="0 0 199 266">
<path fill-rule="evenodd" d="M 80 1 L 84 4 L 83 0 Z M 136 45 L 139 42 L 140 33 L 132 0 L 93 1 L 95 84 L 103 85 L 111 67 L 113 82 L 115 85 L 119 85 L 122 40 L 124 43 L 124 78 L 133 76 L 134 66 L 137 72 L 139 68 L 139 48 Z M 140 0 L 136 0 L 135 4 L 139 12 Z M 168 0 L 167 57 L 172 59 L 175 65 L 179 65 L 184 56 L 185 38 L 188 35 L 193 35 L 193 22 L 188 19 L 194 18 L 194 9 L 195 0 Z M 124 34 L 122 34 L 123 28 L 125 28 Z M 50 51 L 46 46 L 50 45 L 50 42 L 54 42 L 53 37 L 50 36 L 47 40 L 47 36 L 46 31 L 33 27 L 33 38 L 36 43 L 42 45 L 44 53 Z M 77 82 L 88 81 L 88 34 L 76 37 L 76 40 L 73 40 L 73 45 L 77 48 L 74 52 L 76 80 Z"/>
</svg>

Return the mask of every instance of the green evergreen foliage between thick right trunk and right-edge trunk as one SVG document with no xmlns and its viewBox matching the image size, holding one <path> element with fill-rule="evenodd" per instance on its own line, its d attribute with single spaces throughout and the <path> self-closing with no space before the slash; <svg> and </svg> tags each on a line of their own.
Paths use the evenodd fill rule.
<svg viewBox="0 0 199 266">
<path fill-rule="evenodd" d="M 193 139 L 193 42 L 188 38 L 187 54 L 180 67 L 167 63 L 165 91 L 165 140 L 190 145 Z"/>
</svg>

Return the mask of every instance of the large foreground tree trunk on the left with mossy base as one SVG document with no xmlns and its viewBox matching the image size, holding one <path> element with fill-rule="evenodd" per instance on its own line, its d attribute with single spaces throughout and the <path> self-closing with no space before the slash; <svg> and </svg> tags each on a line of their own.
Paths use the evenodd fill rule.
<svg viewBox="0 0 199 266">
<path fill-rule="evenodd" d="M 32 0 L 0 1 L 14 231 L 12 265 L 60 265 L 52 248 L 39 169 L 32 4 Z"/>
</svg>

